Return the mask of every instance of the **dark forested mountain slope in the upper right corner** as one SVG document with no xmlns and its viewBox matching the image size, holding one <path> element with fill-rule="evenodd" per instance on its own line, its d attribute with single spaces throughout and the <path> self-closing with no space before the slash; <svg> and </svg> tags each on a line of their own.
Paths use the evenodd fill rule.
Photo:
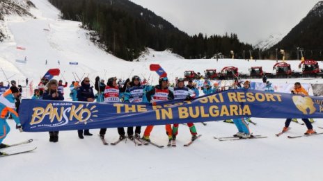
<svg viewBox="0 0 323 181">
<path fill-rule="evenodd" d="M 323 1 L 315 4 L 308 15 L 294 26 L 290 33 L 274 45 L 271 50 L 285 49 L 289 59 L 297 58 L 297 47 L 303 48 L 307 59 L 322 60 L 323 49 Z"/>
</svg>

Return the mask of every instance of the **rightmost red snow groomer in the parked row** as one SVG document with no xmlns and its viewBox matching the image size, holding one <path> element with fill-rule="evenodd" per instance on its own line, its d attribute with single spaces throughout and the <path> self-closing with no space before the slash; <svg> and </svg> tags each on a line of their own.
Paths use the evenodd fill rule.
<svg viewBox="0 0 323 181">
<path fill-rule="evenodd" d="M 322 75 L 319 64 L 315 60 L 304 60 L 299 64 L 299 68 L 302 68 L 303 77 L 317 77 Z"/>
</svg>

